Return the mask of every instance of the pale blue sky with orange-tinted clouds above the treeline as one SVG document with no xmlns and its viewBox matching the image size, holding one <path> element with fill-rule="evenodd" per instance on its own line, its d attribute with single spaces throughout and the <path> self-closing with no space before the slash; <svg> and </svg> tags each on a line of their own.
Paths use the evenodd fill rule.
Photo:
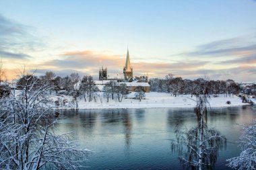
<svg viewBox="0 0 256 170">
<path fill-rule="evenodd" d="M 121 74 L 127 48 L 133 75 L 256 81 L 256 1 L 0 1 L 7 79 Z"/>
</svg>

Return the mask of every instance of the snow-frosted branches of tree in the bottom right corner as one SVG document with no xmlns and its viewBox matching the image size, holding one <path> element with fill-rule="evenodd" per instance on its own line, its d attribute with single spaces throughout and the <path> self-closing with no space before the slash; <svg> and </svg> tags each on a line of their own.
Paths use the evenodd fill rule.
<svg viewBox="0 0 256 170">
<path fill-rule="evenodd" d="M 238 157 L 228 159 L 228 166 L 234 169 L 256 169 L 256 120 L 249 126 L 243 126 L 239 146 L 242 152 Z"/>
</svg>

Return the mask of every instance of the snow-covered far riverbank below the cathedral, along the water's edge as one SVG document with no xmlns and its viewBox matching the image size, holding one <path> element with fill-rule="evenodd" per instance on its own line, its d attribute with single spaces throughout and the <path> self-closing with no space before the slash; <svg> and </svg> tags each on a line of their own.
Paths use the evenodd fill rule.
<svg viewBox="0 0 256 170">
<path fill-rule="evenodd" d="M 177 97 L 171 96 L 169 93 L 156 93 L 150 92 L 146 93 L 146 98 L 133 99 L 134 93 L 130 93 L 127 98 L 124 98 L 122 102 L 119 102 L 118 99 L 109 99 L 109 102 L 106 101 L 106 98 L 102 97 L 102 93 L 98 93 L 96 97 L 96 102 L 84 101 L 83 97 L 77 98 L 78 109 L 111 109 L 111 108 L 193 108 L 195 107 L 195 97 L 191 95 L 179 95 Z M 59 98 L 59 99 L 58 99 Z M 67 102 L 63 104 L 63 99 Z M 61 105 L 60 108 L 73 109 L 75 104 L 72 101 L 72 97 L 66 95 L 59 95 L 53 98 L 53 101 L 59 100 Z M 219 97 L 210 98 L 210 107 L 228 107 L 236 105 L 247 105 L 248 103 L 242 103 L 239 97 L 230 96 L 224 97 L 224 95 L 219 95 Z M 226 101 L 230 101 L 230 104 L 227 104 Z"/>
</svg>

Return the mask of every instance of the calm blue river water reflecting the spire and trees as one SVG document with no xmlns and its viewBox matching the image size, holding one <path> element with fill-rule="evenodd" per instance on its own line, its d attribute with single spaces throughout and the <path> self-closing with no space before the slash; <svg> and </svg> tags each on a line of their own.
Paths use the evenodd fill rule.
<svg viewBox="0 0 256 170">
<path fill-rule="evenodd" d="M 211 109 L 208 126 L 227 138 L 214 169 L 229 169 L 225 160 L 240 153 L 238 124 L 255 118 L 252 106 Z M 192 109 L 65 110 L 59 122 L 59 132 L 75 132 L 77 142 L 94 151 L 87 169 L 186 169 L 170 144 L 177 125 L 190 128 L 196 119 Z"/>
</svg>

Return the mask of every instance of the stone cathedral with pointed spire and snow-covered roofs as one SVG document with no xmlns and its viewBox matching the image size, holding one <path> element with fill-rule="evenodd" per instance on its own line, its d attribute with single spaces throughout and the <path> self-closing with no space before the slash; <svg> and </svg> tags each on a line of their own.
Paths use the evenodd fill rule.
<svg viewBox="0 0 256 170">
<path fill-rule="evenodd" d="M 117 74 L 118 75 L 118 74 Z M 144 91 L 150 91 L 150 85 L 148 84 L 148 76 L 135 76 L 133 77 L 133 67 L 131 66 L 129 50 L 127 49 L 127 55 L 125 60 L 125 66 L 123 67 L 123 75 L 119 77 L 109 77 L 107 68 L 100 68 L 98 73 L 99 81 L 95 81 L 98 87 L 104 85 L 108 81 L 117 81 L 119 83 L 125 83 L 129 91 L 135 91 L 138 86 L 143 87 Z M 99 88 L 100 89 L 100 88 Z"/>
</svg>

